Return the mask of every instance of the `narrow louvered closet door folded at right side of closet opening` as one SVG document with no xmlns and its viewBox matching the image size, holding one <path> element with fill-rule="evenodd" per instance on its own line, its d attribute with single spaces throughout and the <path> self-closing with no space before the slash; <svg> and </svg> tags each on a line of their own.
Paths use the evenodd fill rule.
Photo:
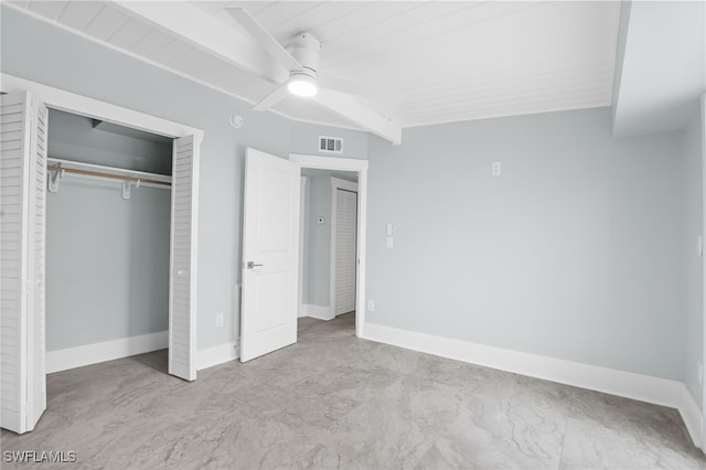
<svg viewBox="0 0 706 470">
<path fill-rule="evenodd" d="M 196 136 L 174 139 L 169 282 L 169 373 L 196 378 L 196 226 L 199 147 Z"/>
</svg>

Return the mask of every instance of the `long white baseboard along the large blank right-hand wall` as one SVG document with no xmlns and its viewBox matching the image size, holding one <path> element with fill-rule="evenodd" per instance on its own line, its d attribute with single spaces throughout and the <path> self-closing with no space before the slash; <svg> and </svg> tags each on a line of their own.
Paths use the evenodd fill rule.
<svg viewBox="0 0 706 470">
<path fill-rule="evenodd" d="M 702 413 L 683 382 L 365 323 L 364 339 L 680 410 L 703 448 Z"/>
</svg>

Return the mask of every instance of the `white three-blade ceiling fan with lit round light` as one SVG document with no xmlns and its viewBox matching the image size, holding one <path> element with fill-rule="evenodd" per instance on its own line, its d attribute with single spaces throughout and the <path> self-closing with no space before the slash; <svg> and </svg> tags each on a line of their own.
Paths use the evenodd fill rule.
<svg viewBox="0 0 706 470">
<path fill-rule="evenodd" d="M 319 51 L 321 43 L 309 32 L 297 34 L 289 51 L 243 8 L 227 8 L 227 12 L 281 66 L 289 78 L 260 100 L 253 109 L 267 110 L 291 95 L 307 97 L 343 119 L 347 119 L 377 136 L 400 143 L 402 128 L 361 102 L 355 95 L 319 86 Z"/>
</svg>

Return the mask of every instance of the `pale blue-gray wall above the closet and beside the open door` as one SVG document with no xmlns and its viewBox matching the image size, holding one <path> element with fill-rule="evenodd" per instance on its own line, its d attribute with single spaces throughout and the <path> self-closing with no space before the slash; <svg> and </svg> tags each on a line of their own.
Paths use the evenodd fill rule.
<svg viewBox="0 0 706 470">
<path fill-rule="evenodd" d="M 329 135 L 331 128 L 252 111 L 250 105 L 223 93 L 0 8 L 2 72 L 205 131 L 200 167 L 197 348 L 234 341 L 239 324 L 235 289 L 240 279 L 245 149 L 284 158 L 290 151 L 319 154 L 317 138 Z M 245 118 L 239 130 L 228 122 L 233 113 Z M 346 131 L 345 139 L 353 157 L 366 158 L 359 154 L 367 148 L 365 133 Z M 225 313 L 224 328 L 215 327 L 220 312 Z"/>
</svg>

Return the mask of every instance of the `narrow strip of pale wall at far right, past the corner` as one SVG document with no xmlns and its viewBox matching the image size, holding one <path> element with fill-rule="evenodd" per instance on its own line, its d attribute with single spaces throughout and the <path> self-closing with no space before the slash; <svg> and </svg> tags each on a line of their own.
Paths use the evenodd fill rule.
<svg viewBox="0 0 706 470">
<path fill-rule="evenodd" d="M 703 168 L 702 138 L 704 122 L 696 113 L 684 130 L 684 169 L 682 173 L 684 188 L 684 264 L 686 267 L 685 310 L 686 323 L 683 338 L 685 341 L 684 380 L 688 391 L 697 404 L 702 404 L 702 386 L 698 384 L 697 364 L 704 361 L 704 277 L 703 261 L 697 256 L 696 237 L 703 231 Z"/>
</svg>

